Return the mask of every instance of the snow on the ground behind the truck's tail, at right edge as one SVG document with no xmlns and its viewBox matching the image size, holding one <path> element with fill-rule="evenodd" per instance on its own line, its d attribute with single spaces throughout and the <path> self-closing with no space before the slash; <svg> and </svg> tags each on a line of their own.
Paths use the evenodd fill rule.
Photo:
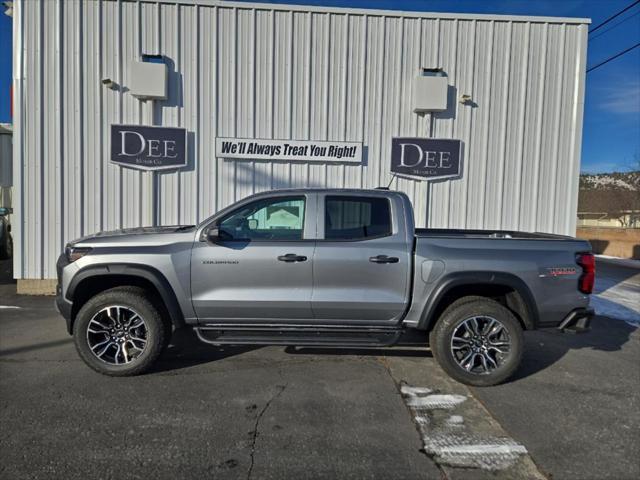
<svg viewBox="0 0 640 480">
<path fill-rule="evenodd" d="M 616 260 L 625 262 L 624 259 L 607 258 L 607 261 L 612 263 L 617 263 Z M 640 264 L 637 260 L 626 260 L 626 262 Z M 627 266 L 631 265 L 627 263 Z M 638 273 L 640 274 L 640 270 Z M 596 286 L 594 294 L 591 295 L 591 306 L 598 315 L 640 325 L 640 286 L 631 281 L 619 281 L 596 273 Z"/>
</svg>

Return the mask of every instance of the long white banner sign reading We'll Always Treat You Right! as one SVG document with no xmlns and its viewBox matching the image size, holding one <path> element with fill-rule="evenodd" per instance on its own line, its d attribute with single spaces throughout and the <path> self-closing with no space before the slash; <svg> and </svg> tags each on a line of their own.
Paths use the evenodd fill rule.
<svg viewBox="0 0 640 480">
<path fill-rule="evenodd" d="M 216 138 L 216 157 L 240 160 L 362 162 L 362 143 Z"/>
</svg>

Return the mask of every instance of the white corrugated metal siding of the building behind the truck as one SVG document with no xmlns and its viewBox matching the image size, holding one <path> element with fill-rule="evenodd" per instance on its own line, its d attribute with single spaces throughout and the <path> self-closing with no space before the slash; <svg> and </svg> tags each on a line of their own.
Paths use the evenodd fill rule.
<svg viewBox="0 0 640 480">
<path fill-rule="evenodd" d="M 584 23 L 205 1 L 14 4 L 18 278 L 54 277 L 65 242 L 98 230 L 194 223 L 272 188 L 387 185 L 392 136 L 464 141 L 461 179 L 393 180 L 418 226 L 575 231 Z M 173 62 L 169 99 L 155 108 L 100 83 L 126 87 L 143 52 Z M 420 67 L 444 68 L 448 112 L 412 112 Z M 186 127 L 188 167 L 112 165 L 112 123 Z M 365 161 L 225 161 L 217 135 L 362 141 Z"/>
</svg>

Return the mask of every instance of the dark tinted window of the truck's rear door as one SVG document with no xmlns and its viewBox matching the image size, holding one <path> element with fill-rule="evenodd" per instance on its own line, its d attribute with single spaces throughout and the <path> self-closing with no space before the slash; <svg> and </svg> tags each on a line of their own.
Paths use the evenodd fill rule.
<svg viewBox="0 0 640 480">
<path fill-rule="evenodd" d="M 389 200 L 378 197 L 325 197 L 326 240 L 367 240 L 391 235 Z"/>
</svg>

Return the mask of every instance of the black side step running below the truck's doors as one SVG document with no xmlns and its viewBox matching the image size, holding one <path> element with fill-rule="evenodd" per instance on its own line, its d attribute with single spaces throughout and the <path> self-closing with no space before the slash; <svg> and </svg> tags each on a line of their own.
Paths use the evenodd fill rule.
<svg viewBox="0 0 640 480">
<path fill-rule="evenodd" d="M 198 338 L 213 345 L 290 345 L 383 347 L 393 345 L 399 327 L 292 324 L 206 324 L 195 327 Z"/>
</svg>

